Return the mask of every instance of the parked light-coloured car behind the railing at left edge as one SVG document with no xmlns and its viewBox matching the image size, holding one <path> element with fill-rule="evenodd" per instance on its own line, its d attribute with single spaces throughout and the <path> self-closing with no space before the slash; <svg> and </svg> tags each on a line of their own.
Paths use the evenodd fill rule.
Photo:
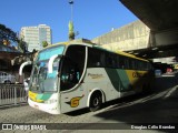
<svg viewBox="0 0 178 133">
<path fill-rule="evenodd" d="M 16 82 L 16 76 L 0 71 L 0 83 L 14 83 Z"/>
</svg>

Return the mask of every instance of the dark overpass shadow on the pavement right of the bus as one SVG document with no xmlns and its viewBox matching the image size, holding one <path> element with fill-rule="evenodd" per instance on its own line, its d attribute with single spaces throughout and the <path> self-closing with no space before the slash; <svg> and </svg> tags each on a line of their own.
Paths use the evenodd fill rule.
<svg viewBox="0 0 178 133">
<path fill-rule="evenodd" d="M 156 78 L 150 94 L 137 94 L 109 102 L 109 110 L 95 116 L 107 122 L 126 124 L 166 124 L 178 123 L 178 74 Z M 172 91 L 172 89 L 175 91 Z M 178 126 L 177 126 L 178 127 Z M 165 130 L 162 130 L 165 132 Z M 170 132 L 170 130 L 166 131 Z"/>
</svg>

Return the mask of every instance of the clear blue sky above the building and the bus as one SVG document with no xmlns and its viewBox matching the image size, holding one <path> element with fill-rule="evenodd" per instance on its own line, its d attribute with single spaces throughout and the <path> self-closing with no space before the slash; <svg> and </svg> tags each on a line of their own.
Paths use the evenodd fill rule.
<svg viewBox="0 0 178 133">
<path fill-rule="evenodd" d="M 47 24 L 52 43 L 68 40 L 69 0 L 0 0 L 0 23 L 20 32 L 22 27 Z M 119 0 L 73 0 L 77 39 L 95 39 L 138 20 Z"/>
</svg>

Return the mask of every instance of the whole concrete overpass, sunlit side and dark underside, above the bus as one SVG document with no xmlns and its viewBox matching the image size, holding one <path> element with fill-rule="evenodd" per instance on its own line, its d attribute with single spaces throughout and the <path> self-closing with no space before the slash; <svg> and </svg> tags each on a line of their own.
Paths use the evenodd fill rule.
<svg viewBox="0 0 178 133">
<path fill-rule="evenodd" d="M 178 0 L 120 0 L 140 21 L 93 39 L 111 50 L 155 59 L 178 57 Z"/>
</svg>

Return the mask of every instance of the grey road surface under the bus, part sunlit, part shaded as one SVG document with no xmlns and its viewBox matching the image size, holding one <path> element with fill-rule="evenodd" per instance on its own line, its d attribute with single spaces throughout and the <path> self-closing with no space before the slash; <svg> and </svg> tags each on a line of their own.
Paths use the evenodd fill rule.
<svg viewBox="0 0 178 133">
<path fill-rule="evenodd" d="M 10 124 L 13 130 L 1 130 L 0 133 L 176 132 L 175 129 L 178 129 L 177 84 L 177 74 L 157 78 L 151 86 L 154 90 L 151 93 L 108 102 L 97 112 L 83 109 L 52 115 L 29 105 L 1 108 L 0 123 L 4 124 L 3 129 L 7 127 L 6 124 Z M 36 126 L 37 123 L 41 125 L 41 130 Z M 48 130 L 43 131 L 46 127 Z"/>
</svg>

